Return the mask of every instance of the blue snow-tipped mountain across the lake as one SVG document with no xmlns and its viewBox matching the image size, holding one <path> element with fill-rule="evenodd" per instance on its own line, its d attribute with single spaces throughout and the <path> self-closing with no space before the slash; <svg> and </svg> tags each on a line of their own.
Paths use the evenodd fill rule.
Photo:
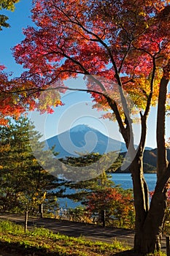
<svg viewBox="0 0 170 256">
<path fill-rule="evenodd" d="M 96 129 L 85 124 L 55 135 L 46 140 L 49 148 L 55 146 L 58 157 L 78 157 L 80 154 L 98 152 L 104 154 L 109 151 L 126 151 L 125 143 L 107 137 Z"/>
</svg>

